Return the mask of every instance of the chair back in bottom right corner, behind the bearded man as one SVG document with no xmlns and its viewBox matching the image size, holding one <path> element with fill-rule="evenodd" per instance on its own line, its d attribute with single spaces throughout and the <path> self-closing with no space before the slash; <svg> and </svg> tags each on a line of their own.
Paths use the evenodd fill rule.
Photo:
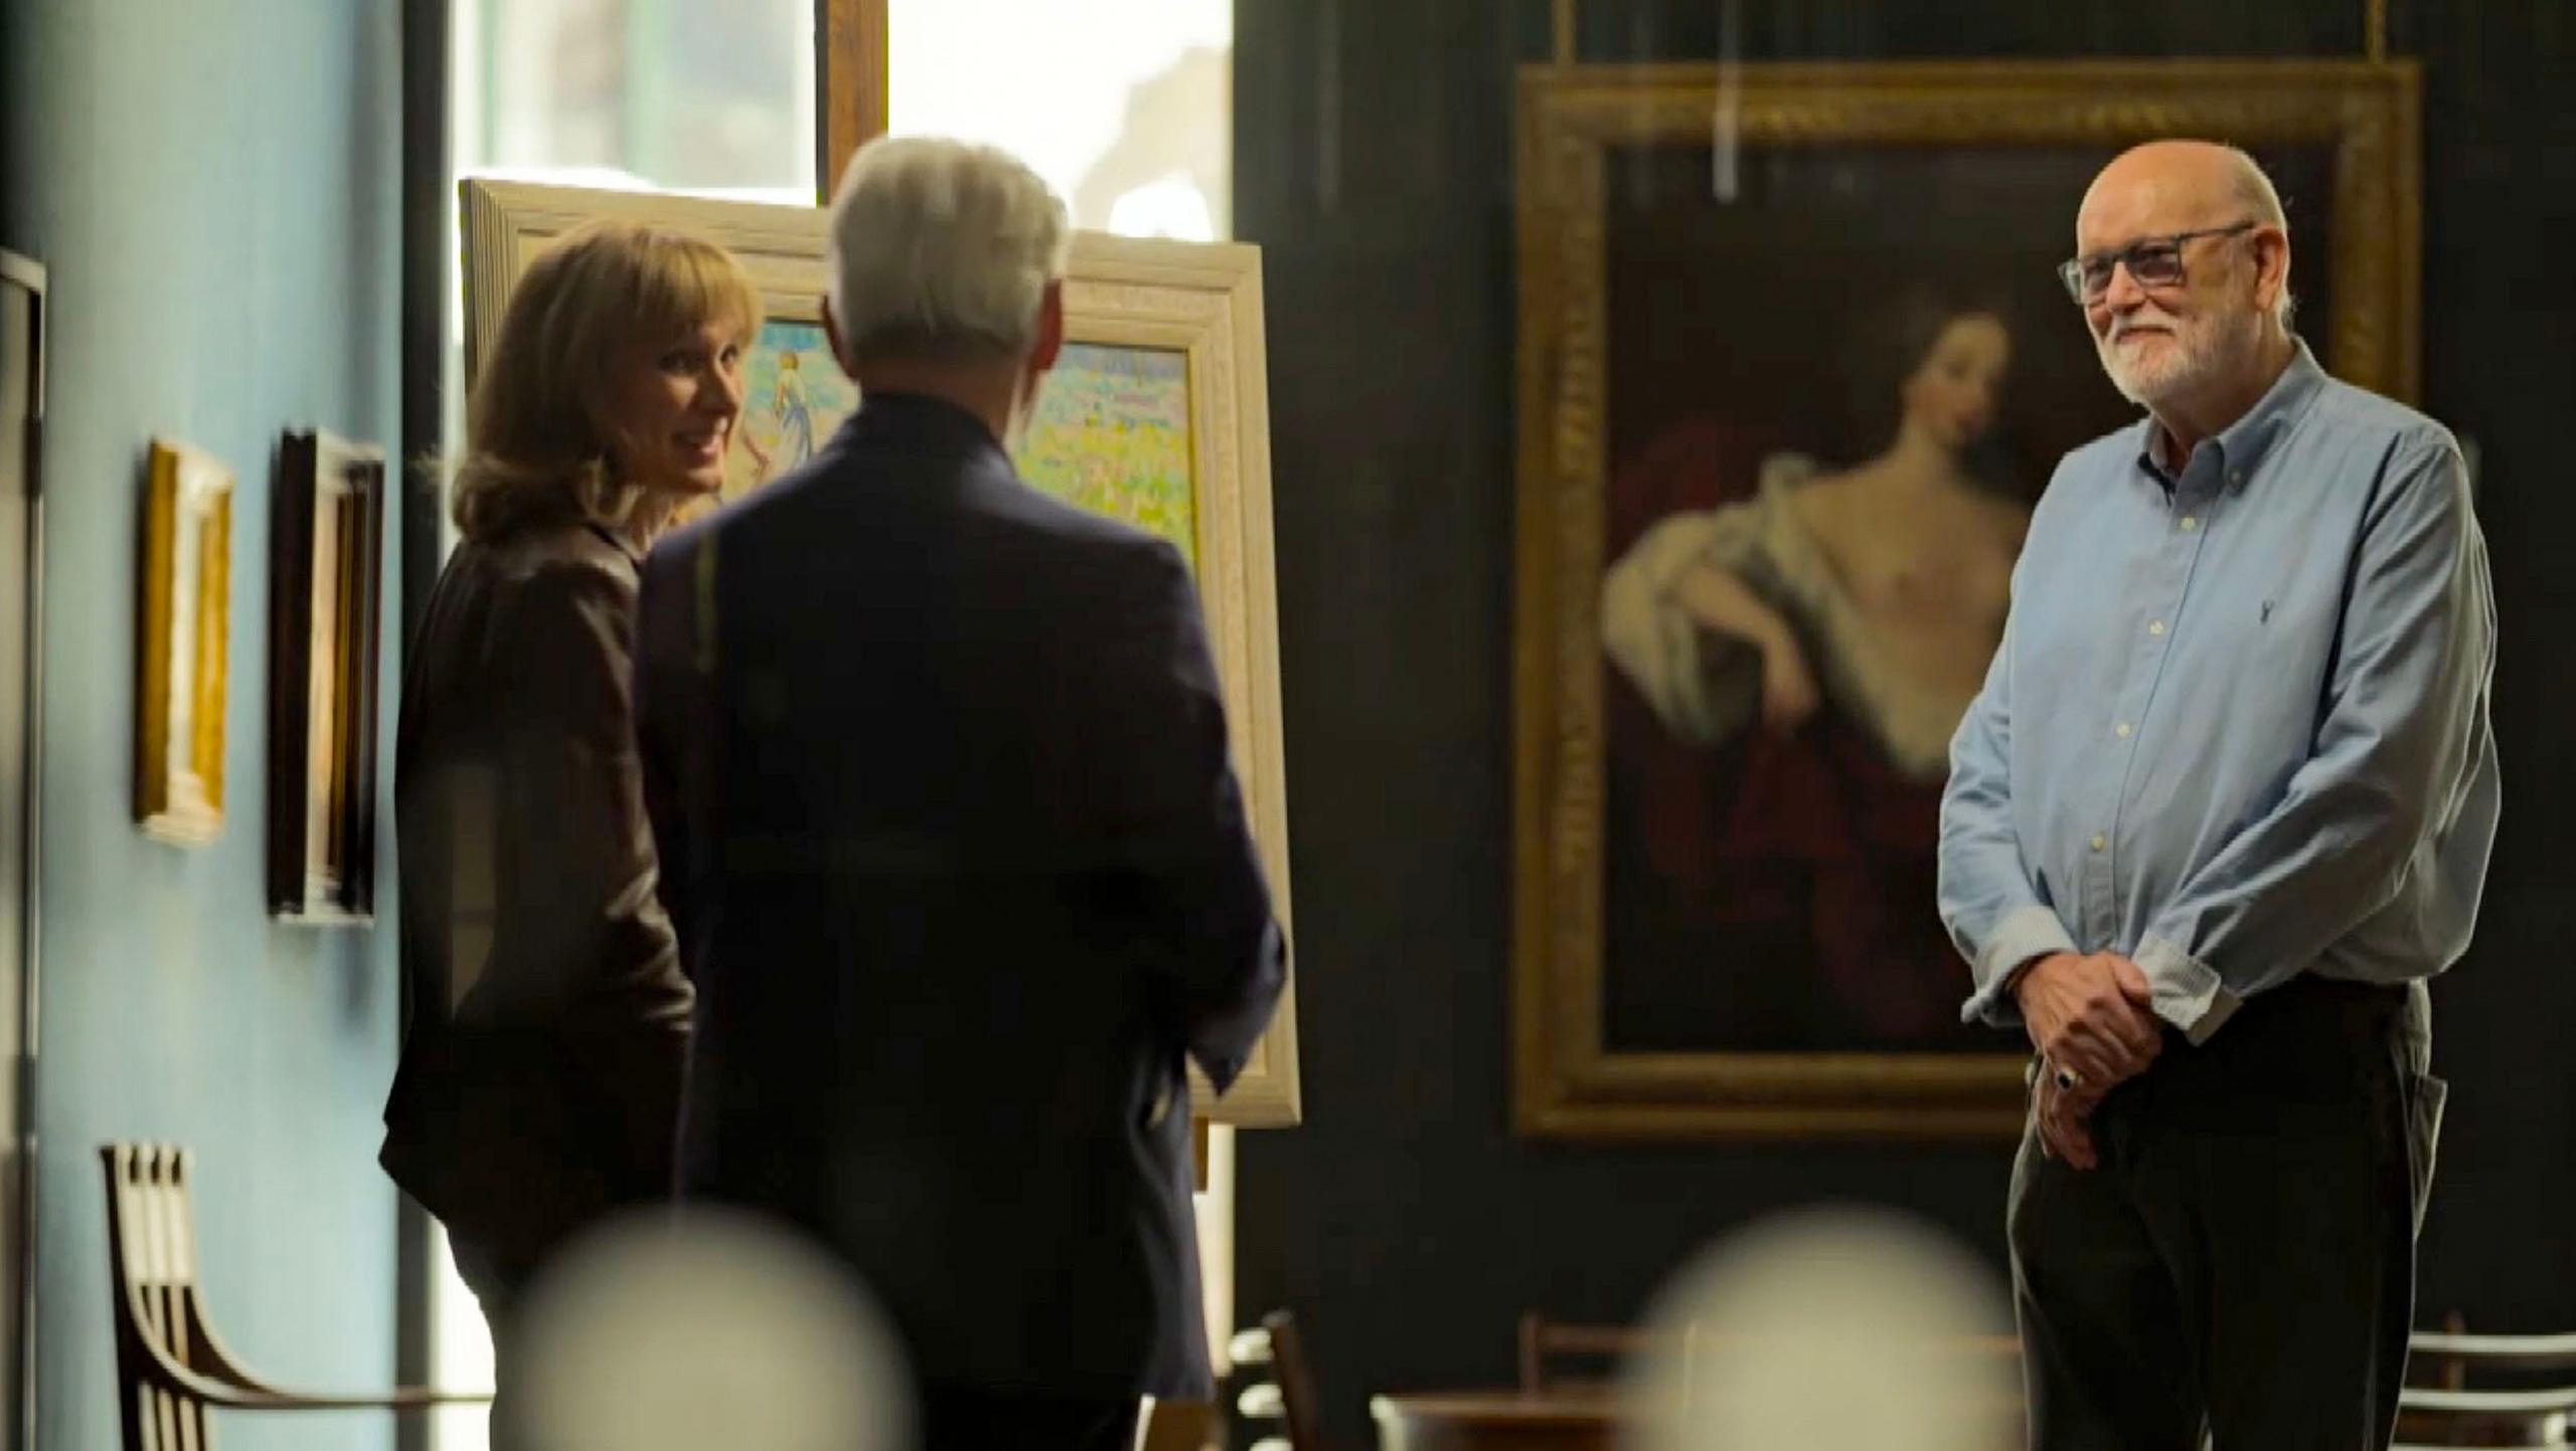
<svg viewBox="0 0 2576 1451">
<path fill-rule="evenodd" d="M 2468 1335 L 2452 1315 L 2445 1330 L 2416 1330 L 2409 1351 L 2409 1384 L 2398 1389 L 2398 1451 L 2571 1446 L 2576 1335 Z"/>
</svg>

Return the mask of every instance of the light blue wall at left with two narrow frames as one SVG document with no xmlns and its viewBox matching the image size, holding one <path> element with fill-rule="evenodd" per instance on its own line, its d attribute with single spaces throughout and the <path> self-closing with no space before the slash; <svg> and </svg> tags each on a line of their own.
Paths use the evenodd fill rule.
<svg viewBox="0 0 2576 1451">
<path fill-rule="evenodd" d="M 260 836 L 276 437 L 322 424 L 394 440 L 399 118 L 392 0 L 0 5 L 0 244 L 52 268 L 54 311 L 46 1451 L 116 1443 L 93 1153 L 111 1137 L 198 1150 L 204 1279 L 234 1351 L 314 1389 L 392 1382 L 394 1189 L 374 1165 L 397 1037 L 392 931 L 273 926 Z M 188 852 L 131 826 L 139 466 L 155 432 L 240 473 L 229 803 L 222 839 Z M 392 630 L 384 651 L 397 679 Z M 392 908 L 384 870 L 376 900 Z M 232 1451 L 343 1451 L 392 1446 L 392 1423 L 232 1415 L 219 1436 Z"/>
</svg>

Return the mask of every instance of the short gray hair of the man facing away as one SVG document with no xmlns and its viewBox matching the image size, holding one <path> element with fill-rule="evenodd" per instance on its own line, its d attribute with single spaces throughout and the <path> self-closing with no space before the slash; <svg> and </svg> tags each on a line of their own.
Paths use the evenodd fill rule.
<svg viewBox="0 0 2576 1451">
<path fill-rule="evenodd" d="M 1072 221 L 1028 162 L 943 136 L 881 136 L 832 196 L 832 322 L 853 363 L 984 363 L 1036 342 Z"/>
</svg>

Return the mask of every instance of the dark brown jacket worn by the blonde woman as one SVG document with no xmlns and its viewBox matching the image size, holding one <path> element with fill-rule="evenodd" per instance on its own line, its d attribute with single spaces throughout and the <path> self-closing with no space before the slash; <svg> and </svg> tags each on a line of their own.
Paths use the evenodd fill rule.
<svg viewBox="0 0 2576 1451">
<path fill-rule="evenodd" d="M 459 545 L 402 684 L 381 1160 L 505 1273 L 670 1186 L 690 985 L 636 774 L 636 563 L 574 522 Z"/>
</svg>

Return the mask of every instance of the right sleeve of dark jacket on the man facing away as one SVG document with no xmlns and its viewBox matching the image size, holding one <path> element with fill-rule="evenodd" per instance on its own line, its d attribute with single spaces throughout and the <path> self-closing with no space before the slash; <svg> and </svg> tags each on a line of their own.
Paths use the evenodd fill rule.
<svg viewBox="0 0 2576 1451">
<path fill-rule="evenodd" d="M 1144 960 L 1167 1024 L 1224 1093 L 1270 1024 L 1288 954 L 1226 756 L 1198 592 L 1172 545 L 1133 558 L 1095 697 L 1110 849 L 1141 885 Z"/>
</svg>

